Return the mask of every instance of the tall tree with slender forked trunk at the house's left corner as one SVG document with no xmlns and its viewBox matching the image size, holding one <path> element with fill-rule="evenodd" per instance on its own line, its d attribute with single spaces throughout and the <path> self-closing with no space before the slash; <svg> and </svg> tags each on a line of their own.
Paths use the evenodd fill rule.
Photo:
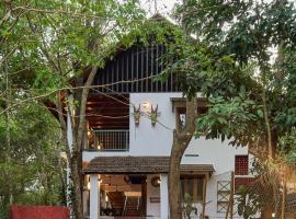
<svg viewBox="0 0 296 219">
<path fill-rule="evenodd" d="M 7 2 L 5 7 L 9 10 L 3 10 L 3 23 L 5 18 L 11 19 L 11 12 L 21 14 L 13 28 L 5 31 L 8 44 L 20 42 L 10 58 L 9 71 L 23 73 L 26 69 L 35 80 L 27 95 L 2 113 L 19 104 L 47 99 L 54 103 L 50 107 L 58 115 L 67 145 L 65 118 L 68 112 L 73 142 L 67 145 L 66 153 L 75 191 L 73 210 L 80 219 L 81 149 L 88 93 L 98 69 L 112 57 L 114 43 L 121 39 L 123 46 L 127 46 L 133 42 L 130 35 L 129 38 L 123 36 L 137 30 L 144 20 L 143 11 L 136 1 L 118 3 L 116 0 Z"/>
</svg>

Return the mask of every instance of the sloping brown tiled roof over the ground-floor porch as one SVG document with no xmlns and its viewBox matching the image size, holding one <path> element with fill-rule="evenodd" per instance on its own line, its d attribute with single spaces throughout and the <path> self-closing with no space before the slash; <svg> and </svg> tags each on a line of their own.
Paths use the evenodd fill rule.
<svg viewBox="0 0 296 219">
<path fill-rule="evenodd" d="M 84 173 L 168 173 L 170 157 L 96 157 Z M 181 164 L 182 171 L 214 172 L 212 164 Z"/>
</svg>

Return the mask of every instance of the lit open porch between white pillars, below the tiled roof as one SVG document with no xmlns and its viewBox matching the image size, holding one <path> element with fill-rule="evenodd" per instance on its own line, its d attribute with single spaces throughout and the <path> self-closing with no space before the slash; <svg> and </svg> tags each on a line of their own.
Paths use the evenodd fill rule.
<svg viewBox="0 0 296 219">
<path fill-rule="evenodd" d="M 90 219 L 160 219 L 162 209 L 163 218 L 168 218 L 167 177 L 167 174 L 88 174 L 83 191 L 84 216 Z"/>
</svg>

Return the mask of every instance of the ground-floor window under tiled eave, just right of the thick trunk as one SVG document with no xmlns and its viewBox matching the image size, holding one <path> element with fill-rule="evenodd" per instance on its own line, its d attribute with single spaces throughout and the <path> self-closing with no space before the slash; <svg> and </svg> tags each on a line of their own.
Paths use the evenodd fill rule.
<svg viewBox="0 0 296 219">
<path fill-rule="evenodd" d="M 185 194 L 192 197 L 193 203 L 202 203 L 204 196 L 204 177 L 198 175 L 181 176 L 181 194 L 184 200 Z"/>
</svg>

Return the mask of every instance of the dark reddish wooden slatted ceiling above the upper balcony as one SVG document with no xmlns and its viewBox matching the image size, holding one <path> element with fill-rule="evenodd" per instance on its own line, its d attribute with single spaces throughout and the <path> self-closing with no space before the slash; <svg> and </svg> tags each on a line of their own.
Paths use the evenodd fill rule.
<svg viewBox="0 0 296 219">
<path fill-rule="evenodd" d="M 87 118 L 92 129 L 128 129 L 128 95 L 89 95 Z"/>
</svg>

